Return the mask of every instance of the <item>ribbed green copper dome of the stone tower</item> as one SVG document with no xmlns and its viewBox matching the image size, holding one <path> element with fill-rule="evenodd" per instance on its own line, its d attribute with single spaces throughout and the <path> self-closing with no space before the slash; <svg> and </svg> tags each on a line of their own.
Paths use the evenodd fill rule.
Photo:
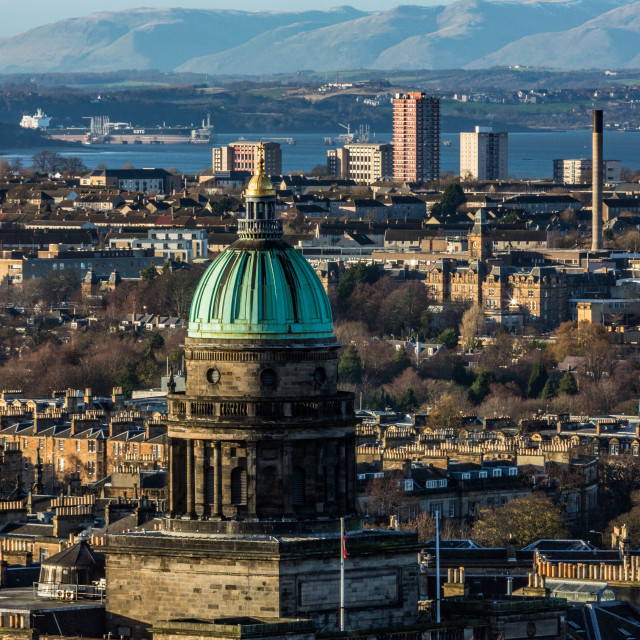
<svg viewBox="0 0 640 640">
<path fill-rule="evenodd" d="M 202 276 L 189 337 L 333 341 L 331 307 L 320 278 L 295 249 L 281 240 L 241 239 Z"/>
</svg>

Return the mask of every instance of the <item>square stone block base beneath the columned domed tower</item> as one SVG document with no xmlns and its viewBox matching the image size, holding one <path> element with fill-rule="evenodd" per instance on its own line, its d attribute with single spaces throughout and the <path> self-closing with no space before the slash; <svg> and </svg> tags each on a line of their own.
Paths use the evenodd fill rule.
<svg viewBox="0 0 640 640">
<path fill-rule="evenodd" d="M 406 532 L 349 535 L 345 561 L 350 628 L 417 619 L 417 538 Z M 108 628 L 142 637 L 159 620 L 219 617 L 311 618 L 335 629 L 339 535 L 110 536 Z"/>
</svg>

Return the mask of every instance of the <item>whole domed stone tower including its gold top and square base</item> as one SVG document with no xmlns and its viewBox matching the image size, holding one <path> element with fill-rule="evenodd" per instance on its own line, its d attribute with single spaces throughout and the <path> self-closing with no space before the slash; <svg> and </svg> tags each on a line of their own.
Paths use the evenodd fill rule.
<svg viewBox="0 0 640 640">
<path fill-rule="evenodd" d="M 118 635 L 167 620 L 311 618 L 336 628 L 340 518 L 346 628 L 417 619 L 417 537 L 355 517 L 353 394 L 337 388 L 331 309 L 282 239 L 263 162 L 240 239 L 203 275 L 170 393 L 169 504 L 158 530 L 106 537 Z M 124 631 L 124 633 L 123 633 Z"/>
</svg>

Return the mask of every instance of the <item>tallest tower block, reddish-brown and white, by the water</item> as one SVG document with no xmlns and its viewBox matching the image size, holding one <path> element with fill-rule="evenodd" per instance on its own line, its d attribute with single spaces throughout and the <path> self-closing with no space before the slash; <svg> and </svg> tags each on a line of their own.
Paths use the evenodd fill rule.
<svg viewBox="0 0 640 640">
<path fill-rule="evenodd" d="M 440 177 L 440 99 L 424 93 L 396 93 L 393 144 L 394 180 L 437 180 Z"/>
</svg>

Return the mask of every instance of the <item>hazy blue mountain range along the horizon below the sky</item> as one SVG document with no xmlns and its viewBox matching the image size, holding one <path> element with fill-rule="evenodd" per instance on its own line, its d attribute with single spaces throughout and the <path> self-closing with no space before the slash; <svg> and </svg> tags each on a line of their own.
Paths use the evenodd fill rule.
<svg viewBox="0 0 640 640">
<path fill-rule="evenodd" d="M 0 73 L 640 67 L 640 2 L 457 0 L 363 12 L 132 9 L 0 38 Z"/>
</svg>

